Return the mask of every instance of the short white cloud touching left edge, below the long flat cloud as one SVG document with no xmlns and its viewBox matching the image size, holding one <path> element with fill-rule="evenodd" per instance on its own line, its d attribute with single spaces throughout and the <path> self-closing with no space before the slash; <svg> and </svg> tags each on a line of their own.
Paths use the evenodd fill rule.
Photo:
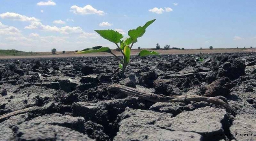
<svg viewBox="0 0 256 141">
<path fill-rule="evenodd" d="M 16 27 L 7 26 L 0 23 L 0 35 L 20 35 L 21 31 Z"/>
</svg>

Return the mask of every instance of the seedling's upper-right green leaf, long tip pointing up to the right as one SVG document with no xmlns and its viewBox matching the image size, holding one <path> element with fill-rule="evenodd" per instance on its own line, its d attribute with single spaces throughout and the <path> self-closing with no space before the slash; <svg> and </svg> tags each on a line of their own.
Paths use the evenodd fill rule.
<svg viewBox="0 0 256 141">
<path fill-rule="evenodd" d="M 148 21 L 143 27 L 137 27 L 137 29 L 132 29 L 128 31 L 128 35 L 132 38 L 132 42 L 137 42 L 137 38 L 143 36 L 143 34 L 146 32 L 146 28 L 155 22 L 156 19 Z"/>
</svg>

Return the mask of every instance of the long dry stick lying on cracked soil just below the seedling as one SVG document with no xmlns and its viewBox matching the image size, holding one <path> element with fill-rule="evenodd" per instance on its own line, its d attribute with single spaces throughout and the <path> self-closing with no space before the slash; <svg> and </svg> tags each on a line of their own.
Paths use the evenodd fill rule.
<svg viewBox="0 0 256 141">
<path fill-rule="evenodd" d="M 164 95 L 157 95 L 157 94 L 153 94 L 153 93 L 142 91 L 142 90 L 137 90 L 137 89 L 122 86 L 122 85 L 110 85 L 108 88 L 110 90 L 116 90 L 116 91 L 122 92 L 128 96 L 136 96 L 138 98 L 145 99 L 147 101 L 151 101 L 154 103 L 205 101 L 205 102 L 223 106 L 224 108 L 226 108 L 226 111 L 229 113 L 234 111 L 227 103 L 215 97 L 205 97 L 205 96 L 196 96 L 196 95 L 195 96 L 164 96 Z"/>
</svg>

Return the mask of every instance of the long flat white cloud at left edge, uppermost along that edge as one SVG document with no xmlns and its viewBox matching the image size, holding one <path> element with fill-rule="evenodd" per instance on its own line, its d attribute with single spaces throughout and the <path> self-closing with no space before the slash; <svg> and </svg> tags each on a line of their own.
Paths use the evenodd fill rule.
<svg viewBox="0 0 256 141">
<path fill-rule="evenodd" d="M 15 20 L 15 21 L 17 20 L 17 21 L 22 21 L 22 22 L 25 22 L 25 21 L 39 22 L 40 21 L 39 19 L 34 18 L 34 17 L 28 17 L 25 15 L 21 15 L 21 14 L 17 14 L 17 13 L 10 13 L 10 12 L 2 13 L 2 14 L 0 14 L 0 17 L 3 19 L 9 19 L 9 20 Z"/>
</svg>

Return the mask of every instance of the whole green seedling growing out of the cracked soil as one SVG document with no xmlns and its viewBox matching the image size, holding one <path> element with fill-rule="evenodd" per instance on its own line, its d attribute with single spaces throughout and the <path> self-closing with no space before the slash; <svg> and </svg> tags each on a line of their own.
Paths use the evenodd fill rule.
<svg viewBox="0 0 256 141">
<path fill-rule="evenodd" d="M 158 52 L 155 51 L 147 51 L 147 50 L 142 50 L 137 53 L 135 58 L 130 60 L 130 54 L 131 54 L 131 49 L 134 43 L 137 42 L 137 38 L 143 36 L 143 34 L 146 32 L 146 28 L 155 22 L 156 19 L 148 21 L 144 26 L 137 27 L 136 29 L 132 29 L 128 31 L 128 35 L 130 36 L 129 38 L 126 38 L 122 40 L 123 36 L 122 34 L 118 33 L 117 31 L 114 30 L 95 30 L 96 33 L 100 34 L 104 39 L 109 40 L 112 43 L 115 43 L 117 45 L 118 49 L 122 53 L 123 58 L 119 58 L 111 50 L 109 47 L 93 47 L 93 48 L 87 48 L 83 49 L 82 51 L 78 51 L 76 53 L 78 54 L 84 54 L 84 53 L 93 53 L 93 52 L 108 52 L 115 56 L 120 62 L 119 62 L 119 68 L 122 70 L 122 76 L 124 76 L 125 69 L 127 65 L 135 60 L 138 57 L 143 57 L 143 56 L 148 56 L 148 55 L 159 55 Z"/>
</svg>

